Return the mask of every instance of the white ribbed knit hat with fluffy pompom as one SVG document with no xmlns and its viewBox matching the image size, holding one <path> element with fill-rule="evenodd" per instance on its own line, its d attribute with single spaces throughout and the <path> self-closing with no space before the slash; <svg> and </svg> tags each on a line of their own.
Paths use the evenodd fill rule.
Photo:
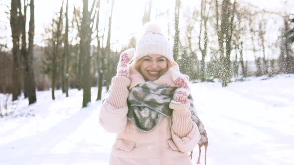
<svg viewBox="0 0 294 165">
<path fill-rule="evenodd" d="M 161 28 L 156 23 L 148 22 L 146 24 L 145 34 L 137 41 L 135 61 L 150 54 L 162 55 L 170 63 L 174 62 L 171 46 L 161 34 Z"/>
</svg>

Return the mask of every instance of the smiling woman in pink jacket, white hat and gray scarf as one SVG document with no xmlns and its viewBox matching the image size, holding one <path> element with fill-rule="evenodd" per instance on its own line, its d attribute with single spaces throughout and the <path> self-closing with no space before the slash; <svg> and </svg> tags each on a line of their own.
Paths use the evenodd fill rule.
<svg viewBox="0 0 294 165">
<path fill-rule="evenodd" d="M 99 122 L 117 134 L 110 165 L 192 165 L 187 152 L 208 142 L 188 82 L 159 26 L 148 24 L 136 53 L 121 54 L 102 103 Z"/>
</svg>

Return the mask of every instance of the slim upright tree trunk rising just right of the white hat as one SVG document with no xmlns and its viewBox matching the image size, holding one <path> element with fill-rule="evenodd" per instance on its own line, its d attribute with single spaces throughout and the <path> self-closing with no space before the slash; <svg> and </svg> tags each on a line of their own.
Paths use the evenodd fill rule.
<svg viewBox="0 0 294 165">
<path fill-rule="evenodd" d="M 174 14 L 174 29 L 175 29 L 175 34 L 174 34 L 174 44 L 173 44 L 173 59 L 177 62 L 178 58 L 178 49 L 179 49 L 179 12 L 180 12 L 180 0 L 175 0 L 175 14 Z"/>
</svg>

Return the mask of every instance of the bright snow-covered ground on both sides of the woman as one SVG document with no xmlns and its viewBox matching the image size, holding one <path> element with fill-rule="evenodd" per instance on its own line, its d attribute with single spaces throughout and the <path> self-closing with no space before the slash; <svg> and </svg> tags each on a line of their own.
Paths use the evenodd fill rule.
<svg viewBox="0 0 294 165">
<path fill-rule="evenodd" d="M 209 138 L 207 165 L 294 165 L 294 75 L 191 89 Z M 55 95 L 52 101 L 51 91 L 39 91 L 37 103 L 20 99 L 0 118 L 0 165 L 108 165 L 115 134 L 98 124 L 97 88 L 87 108 L 82 91 Z M 194 164 L 197 155 L 195 148 Z"/>
</svg>

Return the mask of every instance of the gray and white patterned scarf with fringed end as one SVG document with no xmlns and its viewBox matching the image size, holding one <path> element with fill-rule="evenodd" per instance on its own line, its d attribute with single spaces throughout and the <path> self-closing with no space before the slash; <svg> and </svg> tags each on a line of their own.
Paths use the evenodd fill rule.
<svg viewBox="0 0 294 165">
<path fill-rule="evenodd" d="M 166 84 L 157 85 L 153 82 L 140 83 L 131 88 L 128 97 L 128 119 L 138 130 L 142 132 L 152 131 L 158 125 L 160 115 L 167 118 L 172 117 L 173 110 L 169 108 L 169 103 L 175 89 L 176 87 L 171 87 Z M 191 94 L 188 96 L 188 99 L 190 101 L 189 110 L 192 114 L 191 118 L 197 124 L 201 134 L 200 141 L 198 142 L 199 150 L 202 146 L 205 146 L 206 153 L 208 138 L 204 125 L 197 116 Z"/>
</svg>

